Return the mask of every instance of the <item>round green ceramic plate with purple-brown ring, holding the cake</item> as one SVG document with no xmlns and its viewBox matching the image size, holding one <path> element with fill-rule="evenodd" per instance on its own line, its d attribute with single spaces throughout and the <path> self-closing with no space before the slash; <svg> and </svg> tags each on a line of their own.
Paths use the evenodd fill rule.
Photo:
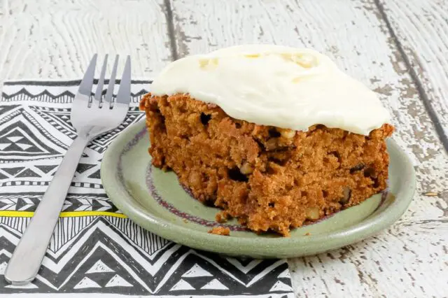
<svg viewBox="0 0 448 298">
<path fill-rule="evenodd" d="M 346 246 L 392 225 L 405 212 L 415 190 L 411 162 L 389 140 L 388 195 L 377 194 L 363 204 L 295 229 L 289 238 L 247 232 L 236 220 L 225 224 L 232 230 L 231 236 L 217 236 L 207 231 L 218 225 L 214 220 L 218 209 L 190 197 L 174 173 L 151 166 L 148 146 L 143 121 L 125 129 L 109 146 L 101 177 L 113 204 L 138 225 L 159 236 L 225 255 L 298 257 Z"/>
</svg>

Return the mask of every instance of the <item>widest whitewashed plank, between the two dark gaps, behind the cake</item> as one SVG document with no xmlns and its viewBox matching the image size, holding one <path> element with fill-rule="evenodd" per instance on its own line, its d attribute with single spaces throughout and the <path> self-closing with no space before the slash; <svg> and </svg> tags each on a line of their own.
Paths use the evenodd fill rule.
<svg viewBox="0 0 448 298">
<path fill-rule="evenodd" d="M 417 1 L 417 0 L 416 0 Z M 398 2 L 398 1 L 397 1 Z M 171 3 L 179 55 L 240 43 L 315 48 L 379 93 L 418 180 L 409 210 L 360 243 L 290 260 L 298 297 L 444 297 L 448 292 L 448 159 L 374 1 Z M 436 197 L 423 192 L 439 192 Z"/>
</svg>

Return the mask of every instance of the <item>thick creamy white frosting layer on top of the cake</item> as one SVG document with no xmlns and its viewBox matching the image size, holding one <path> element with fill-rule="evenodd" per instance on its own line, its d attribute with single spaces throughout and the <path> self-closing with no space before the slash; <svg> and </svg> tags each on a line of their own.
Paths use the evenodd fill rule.
<svg viewBox="0 0 448 298">
<path fill-rule="evenodd" d="M 169 64 L 153 95 L 189 93 L 233 118 L 306 131 L 311 125 L 368 135 L 388 122 L 377 94 L 327 56 L 280 45 L 238 45 Z"/>
</svg>

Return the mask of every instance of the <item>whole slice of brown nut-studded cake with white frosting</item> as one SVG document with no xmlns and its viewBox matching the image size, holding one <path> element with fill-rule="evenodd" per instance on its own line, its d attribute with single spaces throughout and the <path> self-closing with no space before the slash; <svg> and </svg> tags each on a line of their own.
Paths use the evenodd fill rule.
<svg viewBox="0 0 448 298">
<path fill-rule="evenodd" d="M 141 100 L 153 165 L 254 232 L 386 188 L 393 133 L 376 94 L 314 50 L 240 45 L 167 66 Z"/>
</svg>

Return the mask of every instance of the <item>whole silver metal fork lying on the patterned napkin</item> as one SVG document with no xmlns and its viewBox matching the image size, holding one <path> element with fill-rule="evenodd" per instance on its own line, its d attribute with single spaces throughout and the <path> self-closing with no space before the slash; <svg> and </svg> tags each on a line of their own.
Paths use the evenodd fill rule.
<svg viewBox="0 0 448 298">
<path fill-rule="evenodd" d="M 106 96 L 104 101 L 102 100 L 107 58 L 108 55 L 104 57 L 97 90 L 93 98 L 91 90 L 97 64 L 97 54 L 92 57 L 79 85 L 78 92 L 73 99 L 70 120 L 78 132 L 78 136 L 67 150 L 54 178 L 45 194 L 43 194 L 33 218 L 31 218 L 25 233 L 15 248 L 13 256 L 10 258 L 4 276 L 6 281 L 13 285 L 25 285 L 36 277 L 52 233 L 55 230 L 71 180 L 87 143 L 100 134 L 118 127 L 125 119 L 131 97 L 130 57 L 127 56 L 115 101 L 113 100 L 113 87 L 116 81 L 118 55 L 113 62 Z"/>
</svg>

